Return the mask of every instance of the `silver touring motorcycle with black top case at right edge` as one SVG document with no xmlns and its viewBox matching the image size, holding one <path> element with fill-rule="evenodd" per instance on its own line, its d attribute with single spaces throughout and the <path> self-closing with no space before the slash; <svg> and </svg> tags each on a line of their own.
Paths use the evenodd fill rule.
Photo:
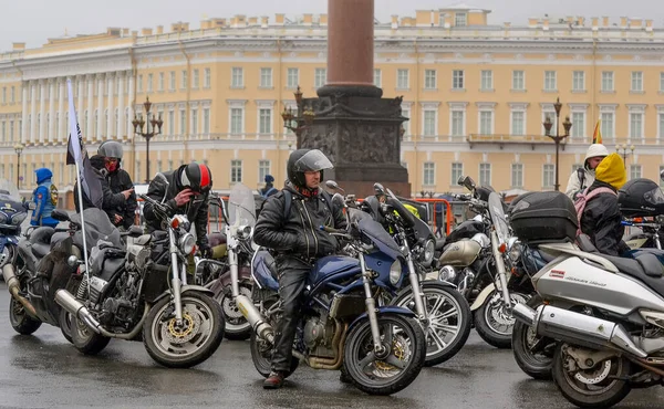
<svg viewBox="0 0 664 409">
<path fill-rule="evenodd" d="M 516 305 L 513 314 L 537 336 L 558 342 L 551 368 L 558 389 L 579 407 L 608 408 L 632 388 L 662 385 L 664 269 L 656 250 L 635 259 L 601 254 L 587 235 L 575 238 L 569 199 L 567 208 L 552 209 L 537 198 L 515 232 L 556 259 L 532 277 L 542 304 Z"/>
</svg>

